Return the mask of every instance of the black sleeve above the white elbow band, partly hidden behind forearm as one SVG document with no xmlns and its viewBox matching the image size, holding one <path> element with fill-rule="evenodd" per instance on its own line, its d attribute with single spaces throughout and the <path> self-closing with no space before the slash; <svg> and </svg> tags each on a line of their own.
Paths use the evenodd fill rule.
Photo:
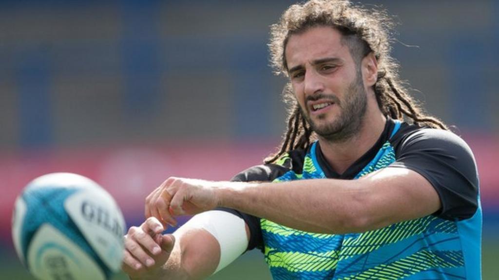
<svg viewBox="0 0 499 280">
<path fill-rule="evenodd" d="M 273 179 L 282 175 L 287 170 L 288 170 L 287 168 L 275 164 L 257 165 L 237 174 L 231 179 L 231 181 L 235 182 L 272 181 Z M 243 220 L 245 220 L 246 224 L 250 228 L 250 242 L 248 244 L 247 251 L 250 251 L 254 248 L 263 250 L 263 239 L 261 236 L 260 218 L 231 208 L 219 207 L 217 208 L 217 210 L 223 210 L 229 213 L 233 213 L 234 215 L 239 216 Z"/>
</svg>

